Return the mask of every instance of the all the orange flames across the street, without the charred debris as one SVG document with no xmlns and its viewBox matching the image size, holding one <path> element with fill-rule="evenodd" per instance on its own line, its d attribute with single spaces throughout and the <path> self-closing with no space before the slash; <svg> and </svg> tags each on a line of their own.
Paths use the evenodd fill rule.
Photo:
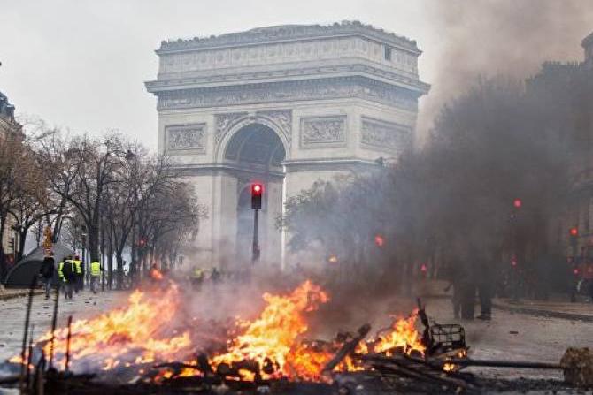
<svg viewBox="0 0 593 395">
<path fill-rule="evenodd" d="M 237 373 L 236 379 L 254 380 L 286 377 L 299 380 L 320 380 L 322 370 L 345 340 L 333 342 L 304 340 L 308 333 L 308 316 L 329 296 L 319 285 L 307 280 L 285 295 L 264 293 L 265 308 L 257 319 L 237 321 L 227 339 L 226 350 L 212 353 L 213 369 L 227 368 Z M 175 327 L 180 314 L 181 294 L 178 285 L 170 282 L 150 292 L 133 292 L 127 306 L 116 308 L 90 320 L 72 325 L 71 366 L 74 371 L 134 368 L 170 361 L 196 361 L 196 331 L 199 322 Z M 409 318 L 397 319 L 388 330 L 361 342 L 355 353 L 425 352 L 415 329 L 417 312 Z M 182 324 L 182 323 L 177 323 Z M 224 333 L 227 333 L 224 331 Z M 67 329 L 55 335 L 58 368 L 65 368 Z M 37 343 L 46 356 L 50 354 L 51 334 Z M 15 357 L 12 361 L 19 362 Z M 247 366 L 246 366 L 247 365 Z M 254 368 L 255 367 L 255 368 Z M 335 370 L 359 370 L 361 366 L 350 357 Z M 188 368 L 182 376 L 201 374 Z"/>
</svg>

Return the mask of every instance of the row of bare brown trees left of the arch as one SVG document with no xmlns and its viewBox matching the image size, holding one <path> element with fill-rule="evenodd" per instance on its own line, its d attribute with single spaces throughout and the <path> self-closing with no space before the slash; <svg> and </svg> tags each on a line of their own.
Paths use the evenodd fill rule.
<svg viewBox="0 0 593 395">
<path fill-rule="evenodd" d="M 87 248 L 91 261 L 104 257 L 109 284 L 120 287 L 126 254 L 135 275 L 150 262 L 175 262 L 184 241 L 196 236 L 204 209 L 166 156 L 120 133 L 70 136 L 40 121 L 25 130 L 0 147 L 7 154 L 0 171 L 9 176 L 0 185 L 0 232 L 12 216 L 19 254 L 31 230 L 40 235 L 49 226 L 54 242 L 70 234 L 72 247 Z"/>
</svg>

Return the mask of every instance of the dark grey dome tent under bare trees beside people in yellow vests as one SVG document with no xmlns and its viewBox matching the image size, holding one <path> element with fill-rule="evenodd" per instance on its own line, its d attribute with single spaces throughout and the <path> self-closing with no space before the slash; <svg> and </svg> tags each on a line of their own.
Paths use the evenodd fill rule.
<svg viewBox="0 0 593 395">
<path fill-rule="evenodd" d="M 63 260 L 66 256 L 74 255 L 73 250 L 61 244 L 55 244 L 52 247 L 52 251 L 54 252 L 56 266 L 58 266 L 58 262 Z M 43 251 L 43 247 L 35 248 L 31 254 L 28 254 L 17 262 L 17 264 L 8 272 L 6 280 L 4 281 L 4 286 L 7 288 L 28 288 L 28 286 L 31 285 L 31 278 L 39 274 L 44 257 L 45 252 Z M 56 267 L 56 269 L 58 268 Z M 58 270 L 56 270 L 54 276 L 54 279 L 58 278 Z"/>
</svg>

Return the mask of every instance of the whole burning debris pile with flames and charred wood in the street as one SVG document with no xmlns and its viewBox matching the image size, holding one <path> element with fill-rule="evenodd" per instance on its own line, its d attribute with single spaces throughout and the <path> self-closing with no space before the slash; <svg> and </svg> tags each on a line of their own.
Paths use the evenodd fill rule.
<svg viewBox="0 0 593 395">
<path fill-rule="evenodd" d="M 329 300 L 311 281 L 288 294 L 264 293 L 258 317 L 234 323 L 189 317 L 180 293 L 168 281 L 150 292 L 135 291 L 126 307 L 45 334 L 26 360 L 37 365 L 38 376 L 39 365 L 51 355 L 55 367 L 66 372 L 50 368 L 44 374 L 45 386 L 56 393 L 105 393 L 116 391 L 114 385 L 126 393 L 261 387 L 290 393 L 287 385 L 300 386 L 294 393 L 309 387 L 311 393 L 335 393 L 336 385 L 352 391 L 375 386 L 373 393 L 479 388 L 474 376 L 459 372 L 470 364 L 463 328 L 428 323 L 420 300 L 412 315 L 373 337 L 367 338 L 366 324 L 326 341 L 307 338 L 310 315 Z M 421 335 L 418 318 L 425 327 Z"/>
</svg>

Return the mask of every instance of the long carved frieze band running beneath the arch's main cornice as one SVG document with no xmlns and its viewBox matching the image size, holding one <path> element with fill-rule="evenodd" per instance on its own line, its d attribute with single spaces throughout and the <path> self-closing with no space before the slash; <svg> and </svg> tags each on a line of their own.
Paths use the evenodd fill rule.
<svg viewBox="0 0 593 395">
<path fill-rule="evenodd" d="M 352 97 L 385 103 L 403 110 L 415 111 L 418 106 L 416 95 L 404 88 L 364 77 L 344 77 L 159 92 L 158 110 Z"/>
</svg>

